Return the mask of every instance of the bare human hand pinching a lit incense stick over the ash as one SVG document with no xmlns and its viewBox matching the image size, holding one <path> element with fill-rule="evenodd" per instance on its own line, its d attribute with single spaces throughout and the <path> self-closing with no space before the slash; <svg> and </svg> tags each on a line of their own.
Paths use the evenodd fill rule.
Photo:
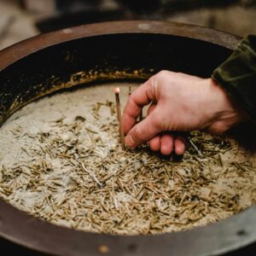
<svg viewBox="0 0 256 256">
<path fill-rule="evenodd" d="M 149 103 L 147 117 L 137 123 Z M 173 131 L 222 133 L 244 119 L 245 113 L 212 79 L 161 71 L 131 94 L 123 113 L 125 143 L 135 148 L 149 142 L 152 150 L 162 154 L 171 154 L 173 148 L 183 154 L 184 139 Z"/>
</svg>

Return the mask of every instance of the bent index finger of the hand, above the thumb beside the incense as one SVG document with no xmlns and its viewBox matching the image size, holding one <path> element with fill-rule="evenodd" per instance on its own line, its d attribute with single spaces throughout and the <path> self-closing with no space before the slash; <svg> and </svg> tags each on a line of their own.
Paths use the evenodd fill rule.
<svg viewBox="0 0 256 256">
<path fill-rule="evenodd" d="M 125 134 L 136 124 L 137 117 L 140 115 L 143 106 L 150 102 L 155 102 L 154 77 L 148 79 L 144 84 L 134 90 L 123 113 L 123 128 Z"/>
</svg>

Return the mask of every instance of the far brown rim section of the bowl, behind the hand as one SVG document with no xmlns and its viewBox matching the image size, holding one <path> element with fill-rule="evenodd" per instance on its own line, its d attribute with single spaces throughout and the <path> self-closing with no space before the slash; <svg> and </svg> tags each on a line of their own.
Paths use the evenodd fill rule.
<svg viewBox="0 0 256 256">
<path fill-rule="evenodd" d="M 185 38 L 195 38 L 212 44 L 218 44 L 228 49 L 235 49 L 240 37 L 211 28 L 194 26 L 176 22 L 161 22 L 148 20 L 110 21 L 90 25 L 75 26 L 56 32 L 40 34 L 28 38 L 18 44 L 0 51 L 0 71 L 26 55 L 78 38 L 88 38 L 99 35 L 119 33 L 157 33 L 169 34 Z"/>
</svg>

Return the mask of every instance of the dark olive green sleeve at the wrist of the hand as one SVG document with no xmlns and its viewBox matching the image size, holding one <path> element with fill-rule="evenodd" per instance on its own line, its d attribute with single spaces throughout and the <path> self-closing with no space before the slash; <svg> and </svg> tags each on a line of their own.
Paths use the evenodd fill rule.
<svg viewBox="0 0 256 256">
<path fill-rule="evenodd" d="M 244 38 L 233 54 L 214 70 L 212 79 L 256 121 L 256 35 Z"/>
</svg>

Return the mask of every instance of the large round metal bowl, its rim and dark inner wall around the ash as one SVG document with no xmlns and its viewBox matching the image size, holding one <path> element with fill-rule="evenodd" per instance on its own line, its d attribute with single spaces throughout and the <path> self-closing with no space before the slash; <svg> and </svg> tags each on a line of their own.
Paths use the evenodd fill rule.
<svg viewBox="0 0 256 256">
<path fill-rule="evenodd" d="M 0 52 L 0 123 L 28 102 L 77 84 L 147 79 L 162 69 L 209 77 L 240 39 L 199 26 L 155 21 L 98 23 L 30 38 Z M 0 201 L 0 235 L 57 255 L 244 253 L 256 243 L 256 207 L 194 230 L 110 236 L 49 224 Z"/>
</svg>

